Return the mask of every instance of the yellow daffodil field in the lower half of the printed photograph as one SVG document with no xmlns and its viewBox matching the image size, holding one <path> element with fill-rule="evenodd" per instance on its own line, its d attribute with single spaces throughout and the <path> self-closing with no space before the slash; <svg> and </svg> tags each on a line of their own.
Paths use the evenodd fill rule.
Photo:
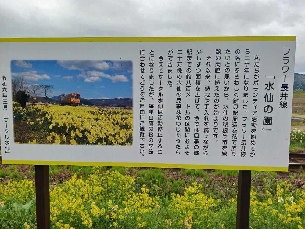
<svg viewBox="0 0 305 229">
<path fill-rule="evenodd" d="M 124 109 L 36 105 L 13 106 L 16 143 L 131 145 L 133 112 Z"/>
</svg>

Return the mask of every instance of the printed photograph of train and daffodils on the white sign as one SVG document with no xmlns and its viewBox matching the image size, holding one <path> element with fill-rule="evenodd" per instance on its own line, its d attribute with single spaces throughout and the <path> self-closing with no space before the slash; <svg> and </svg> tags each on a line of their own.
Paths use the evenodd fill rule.
<svg viewBox="0 0 305 229">
<path fill-rule="evenodd" d="M 13 60 L 11 70 L 15 143 L 132 144 L 131 61 Z"/>
</svg>

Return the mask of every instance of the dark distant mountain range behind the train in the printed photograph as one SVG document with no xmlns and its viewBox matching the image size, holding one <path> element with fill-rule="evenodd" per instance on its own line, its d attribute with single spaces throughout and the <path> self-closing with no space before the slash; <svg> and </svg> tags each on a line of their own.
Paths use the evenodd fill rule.
<svg viewBox="0 0 305 229">
<path fill-rule="evenodd" d="M 64 96 L 65 94 L 53 96 L 51 98 L 48 98 L 48 103 L 56 103 L 59 104 L 60 97 Z M 45 101 L 44 97 L 36 97 L 37 101 Z M 132 99 L 126 98 L 126 99 L 85 99 L 80 98 L 80 105 L 89 105 L 89 106 L 112 106 L 112 107 L 132 107 Z"/>
</svg>

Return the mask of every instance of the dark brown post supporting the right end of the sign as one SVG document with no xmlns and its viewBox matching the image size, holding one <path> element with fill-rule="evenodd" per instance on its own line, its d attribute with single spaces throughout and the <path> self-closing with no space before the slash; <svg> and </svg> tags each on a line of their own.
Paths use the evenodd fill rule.
<svg viewBox="0 0 305 229">
<path fill-rule="evenodd" d="M 251 170 L 238 171 L 236 229 L 249 228 Z"/>
</svg>

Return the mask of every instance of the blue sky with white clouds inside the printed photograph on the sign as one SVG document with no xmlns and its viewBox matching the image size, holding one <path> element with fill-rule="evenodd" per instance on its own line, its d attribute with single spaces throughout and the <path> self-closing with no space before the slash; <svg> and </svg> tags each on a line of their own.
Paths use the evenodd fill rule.
<svg viewBox="0 0 305 229">
<path fill-rule="evenodd" d="M 132 98 L 132 62 L 110 60 L 12 60 L 12 77 L 48 84 L 52 96 L 79 93 L 87 99 Z"/>
</svg>

